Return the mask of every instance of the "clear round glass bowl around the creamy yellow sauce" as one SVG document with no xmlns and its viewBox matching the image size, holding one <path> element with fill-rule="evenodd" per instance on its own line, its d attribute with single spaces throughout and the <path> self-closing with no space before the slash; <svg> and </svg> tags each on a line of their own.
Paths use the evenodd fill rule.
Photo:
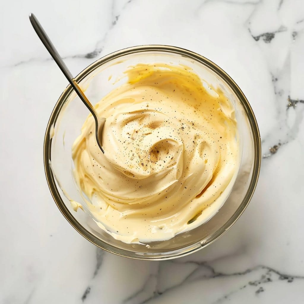
<svg viewBox="0 0 304 304">
<path fill-rule="evenodd" d="M 147 45 L 131 47 L 109 54 L 91 64 L 75 79 L 95 104 L 114 88 L 125 83 L 123 72 L 138 63 L 170 63 L 191 67 L 199 77 L 220 87 L 233 103 L 240 141 L 240 169 L 224 205 L 206 223 L 170 240 L 143 244 L 126 244 L 101 230 L 91 216 L 73 210 L 70 200 L 82 202 L 72 177 L 71 147 L 89 112 L 67 86 L 54 107 L 44 139 L 44 168 L 53 198 L 71 225 L 96 246 L 118 254 L 143 260 L 162 260 L 185 256 L 202 249 L 225 233 L 247 207 L 260 170 L 261 142 L 254 113 L 236 83 L 216 64 L 205 57 L 178 47 Z M 75 206 L 74 206 L 75 207 Z"/>
</svg>

